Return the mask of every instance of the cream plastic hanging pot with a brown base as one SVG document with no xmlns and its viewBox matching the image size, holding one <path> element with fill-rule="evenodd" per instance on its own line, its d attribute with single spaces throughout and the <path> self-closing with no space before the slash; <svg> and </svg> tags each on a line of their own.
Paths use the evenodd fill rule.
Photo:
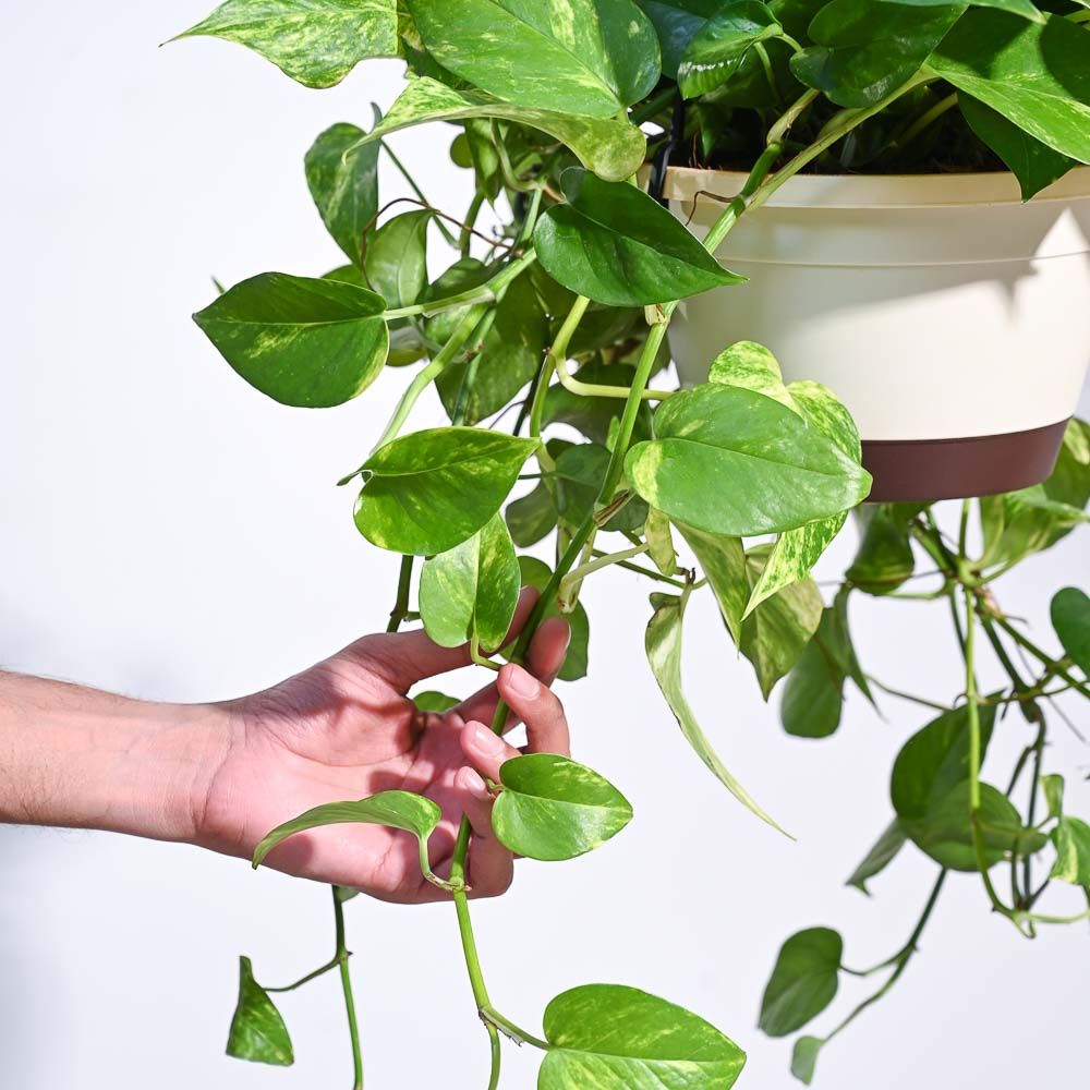
<svg viewBox="0 0 1090 1090">
<path fill-rule="evenodd" d="M 698 238 L 744 175 L 671 167 Z M 1090 362 L 1090 168 L 1028 204 L 1007 173 L 796 175 L 717 251 L 749 278 L 687 300 L 681 380 L 738 340 L 851 411 L 875 501 L 1022 488 L 1052 472 Z"/>
</svg>

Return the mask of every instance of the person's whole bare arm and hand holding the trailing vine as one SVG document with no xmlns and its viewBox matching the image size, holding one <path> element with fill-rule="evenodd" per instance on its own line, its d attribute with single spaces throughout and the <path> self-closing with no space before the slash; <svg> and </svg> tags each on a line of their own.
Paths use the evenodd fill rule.
<svg viewBox="0 0 1090 1090">
<path fill-rule="evenodd" d="M 535 596 L 523 592 L 511 635 Z M 364 637 L 271 689 L 218 704 L 154 704 L 0 674 L 0 822 L 109 829 L 249 859 L 266 833 L 312 807 L 410 790 L 443 810 L 428 840 L 435 871 L 447 873 L 465 813 L 471 896 L 496 896 L 513 859 L 492 835 L 485 778 L 498 780 L 520 751 L 486 724 L 501 697 L 506 729 L 525 723 L 526 751 L 568 753 L 564 708 L 548 689 L 568 638 L 565 621 L 545 621 L 526 669 L 504 666 L 443 715 L 407 693 L 469 665 L 469 650 L 439 647 L 423 631 Z M 424 881 L 417 856 L 408 833 L 342 824 L 291 837 L 266 864 L 383 900 L 449 897 Z"/>
</svg>

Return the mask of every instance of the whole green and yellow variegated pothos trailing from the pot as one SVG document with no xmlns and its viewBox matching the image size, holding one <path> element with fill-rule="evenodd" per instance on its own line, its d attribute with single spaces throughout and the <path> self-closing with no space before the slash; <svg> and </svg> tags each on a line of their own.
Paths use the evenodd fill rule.
<svg viewBox="0 0 1090 1090">
<path fill-rule="evenodd" d="M 1062 776 L 1044 771 L 1055 698 L 1090 699 L 1090 600 L 1075 588 L 1056 595 L 1063 650 L 1050 653 L 1003 611 L 991 584 L 1087 521 L 1090 427 L 1068 425 L 1042 484 L 967 500 L 953 535 L 925 504 L 862 510 L 858 553 L 826 605 L 811 569 L 871 487 L 850 414 L 819 383 L 785 383 L 775 356 L 749 341 L 716 346 L 706 384 L 668 388 L 667 329 L 679 301 L 742 282 L 712 255 L 800 170 L 973 170 L 1002 160 L 1028 198 L 1090 161 L 1087 22 L 1085 5 L 1030 0 L 228 0 L 181 35 L 241 43 L 310 87 L 338 83 L 371 58 L 405 61 L 405 88 L 384 114 L 366 130 L 334 124 L 306 156 L 318 213 L 350 264 L 323 277 L 258 274 L 195 317 L 247 383 L 288 405 L 341 404 L 385 366 L 416 364 L 389 425 L 341 483 L 356 491 L 360 532 L 400 553 L 403 573 L 413 557 L 426 558 L 419 614 L 433 639 L 468 642 L 487 662 L 482 654 L 502 640 L 519 585 L 534 585 L 541 598 L 502 653 L 519 661 L 543 618 L 564 613 L 572 644 L 561 677 L 573 680 L 589 662 L 582 584 L 607 568 L 647 580 L 649 666 L 681 735 L 773 825 L 729 771 L 738 754 L 720 755 L 683 694 L 692 594 L 714 596 L 725 650 L 732 642 L 752 663 L 765 699 L 786 678 L 789 734 L 833 734 L 848 691 L 871 702 L 888 691 L 929 707 L 931 722 L 894 763 L 892 821 L 849 881 L 867 893 L 908 844 L 934 861 L 936 877 L 906 944 L 871 970 L 886 974 L 876 993 L 824 1037 L 798 1039 L 791 1069 L 806 1082 L 820 1050 L 905 971 L 952 871 L 976 874 L 982 910 L 1025 934 L 1088 915 L 1078 906 L 1046 913 L 1039 903 L 1056 883 L 1090 897 L 1090 826 L 1068 812 Z M 687 128 L 669 133 L 679 95 Z M 429 204 L 411 180 L 419 207 L 391 214 L 380 202 L 387 140 L 438 121 L 455 125 L 451 157 L 475 189 L 469 209 Z M 667 140 L 700 162 L 747 171 L 702 241 L 630 184 Z M 502 223 L 491 238 L 476 226 L 485 205 Z M 440 234 L 450 263 L 429 281 L 427 249 Z M 792 360 L 791 370 L 804 373 L 807 361 Z M 450 426 L 411 431 L 433 383 Z M 556 424 L 585 441 L 560 438 Z M 534 479 L 529 491 L 517 484 L 523 476 Z M 980 555 L 968 545 L 974 511 Z M 518 555 L 550 536 L 550 566 Z M 930 572 L 916 571 L 921 556 Z M 934 585 L 909 584 L 918 574 Z M 399 588 L 400 615 L 408 590 Z M 945 604 L 964 694 L 905 694 L 869 675 L 849 628 L 859 594 Z M 988 694 L 976 687 L 981 641 L 1008 677 Z M 1016 650 L 1026 665 L 1016 665 Z M 438 692 L 417 698 L 426 710 L 451 703 Z M 494 729 L 506 715 L 500 704 Z M 1005 789 L 981 779 L 989 738 L 1001 729 L 1028 730 L 1013 773 L 998 779 Z M 491 786 L 496 835 L 532 859 L 582 855 L 632 816 L 616 787 L 565 758 L 516 759 Z M 775 813 L 775 784 L 763 784 L 761 796 Z M 434 802 L 408 791 L 331 801 L 271 831 L 254 863 L 282 839 L 337 822 L 415 836 L 425 876 L 457 909 L 492 1042 L 491 1088 L 500 1034 L 542 1050 L 541 1090 L 734 1085 L 744 1064 L 738 1045 L 634 988 L 562 993 L 545 1009 L 541 1036 L 497 1010 L 467 900 L 469 825 L 463 819 L 451 872 L 440 877 L 427 865 L 437 820 Z M 1045 871 L 1038 857 L 1050 852 Z M 1007 899 L 996 868 L 1009 869 Z M 350 1012 L 343 904 L 352 896 L 334 889 L 336 955 L 300 982 L 339 968 Z M 851 972 L 843 947 L 828 928 L 784 944 L 762 1003 L 765 1032 L 787 1036 L 822 1014 Z M 263 988 L 242 960 L 231 1055 L 292 1062 L 269 992 L 294 986 Z M 358 1054 L 354 1016 L 350 1027 Z"/>
</svg>

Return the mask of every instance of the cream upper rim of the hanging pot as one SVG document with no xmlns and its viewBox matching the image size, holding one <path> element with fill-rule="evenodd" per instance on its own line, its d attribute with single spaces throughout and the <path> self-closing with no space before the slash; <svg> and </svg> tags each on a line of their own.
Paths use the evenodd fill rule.
<svg viewBox="0 0 1090 1090">
<path fill-rule="evenodd" d="M 663 195 L 671 201 L 711 194 L 731 198 L 748 175 L 739 170 L 669 167 Z M 1074 167 L 1031 201 L 1090 197 L 1090 167 Z M 715 202 L 716 204 L 719 201 Z M 1021 205 L 1021 192 L 1009 171 L 961 174 L 796 174 L 766 202 L 772 208 L 952 208 L 966 205 Z"/>
</svg>

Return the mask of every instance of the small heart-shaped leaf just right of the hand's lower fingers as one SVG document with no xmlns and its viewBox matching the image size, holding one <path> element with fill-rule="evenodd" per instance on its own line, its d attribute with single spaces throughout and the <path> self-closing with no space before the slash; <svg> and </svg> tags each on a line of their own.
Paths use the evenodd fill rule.
<svg viewBox="0 0 1090 1090">
<path fill-rule="evenodd" d="M 574 859 L 600 848 L 631 820 L 632 807 L 596 772 L 555 753 L 528 753 L 499 770 L 504 790 L 492 827 L 530 859 Z"/>
</svg>

